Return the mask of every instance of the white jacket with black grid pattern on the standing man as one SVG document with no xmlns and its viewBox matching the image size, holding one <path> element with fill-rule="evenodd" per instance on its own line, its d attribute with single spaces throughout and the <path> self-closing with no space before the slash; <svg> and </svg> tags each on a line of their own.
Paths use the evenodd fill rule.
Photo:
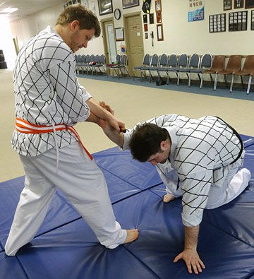
<svg viewBox="0 0 254 279">
<path fill-rule="evenodd" d="M 75 76 L 73 52 L 54 30 L 44 30 L 24 44 L 14 70 L 16 117 L 32 124 L 76 124 L 89 117 L 90 96 Z M 14 131 L 12 146 L 35 156 L 55 146 L 55 134 Z M 57 131 L 59 148 L 77 141 L 71 131 Z"/>
</svg>

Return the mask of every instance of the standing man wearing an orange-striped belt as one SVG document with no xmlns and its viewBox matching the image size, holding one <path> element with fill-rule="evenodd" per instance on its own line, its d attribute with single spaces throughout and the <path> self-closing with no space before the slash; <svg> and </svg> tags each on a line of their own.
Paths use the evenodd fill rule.
<svg viewBox="0 0 254 279">
<path fill-rule="evenodd" d="M 15 256 L 39 230 L 58 187 L 108 248 L 132 242 L 138 230 L 122 230 L 111 206 L 107 184 L 73 126 L 108 121 L 116 133 L 124 123 L 100 107 L 75 76 L 73 52 L 100 26 L 92 11 L 68 6 L 48 27 L 26 42 L 14 70 L 16 129 L 12 147 L 25 170 L 25 188 L 6 242 Z"/>
</svg>

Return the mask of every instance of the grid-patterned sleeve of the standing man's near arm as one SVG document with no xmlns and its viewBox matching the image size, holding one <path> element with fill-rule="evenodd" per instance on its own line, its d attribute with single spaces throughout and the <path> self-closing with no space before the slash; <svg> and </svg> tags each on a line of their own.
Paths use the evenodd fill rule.
<svg viewBox="0 0 254 279">
<path fill-rule="evenodd" d="M 75 63 L 63 61 L 49 68 L 49 78 L 52 81 L 56 100 L 63 111 L 73 122 L 85 121 L 90 115 L 90 109 L 85 103 L 92 97 L 75 76 Z"/>
</svg>

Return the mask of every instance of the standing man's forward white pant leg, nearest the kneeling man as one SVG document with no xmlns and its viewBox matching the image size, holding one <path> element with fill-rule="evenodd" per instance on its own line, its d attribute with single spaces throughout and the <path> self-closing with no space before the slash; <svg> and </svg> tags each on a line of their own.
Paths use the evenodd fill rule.
<svg viewBox="0 0 254 279">
<path fill-rule="evenodd" d="M 125 241 L 127 232 L 116 222 L 104 175 L 79 142 L 59 150 L 58 170 L 55 148 L 35 158 L 35 165 L 66 194 L 102 245 L 114 249 Z"/>
</svg>

